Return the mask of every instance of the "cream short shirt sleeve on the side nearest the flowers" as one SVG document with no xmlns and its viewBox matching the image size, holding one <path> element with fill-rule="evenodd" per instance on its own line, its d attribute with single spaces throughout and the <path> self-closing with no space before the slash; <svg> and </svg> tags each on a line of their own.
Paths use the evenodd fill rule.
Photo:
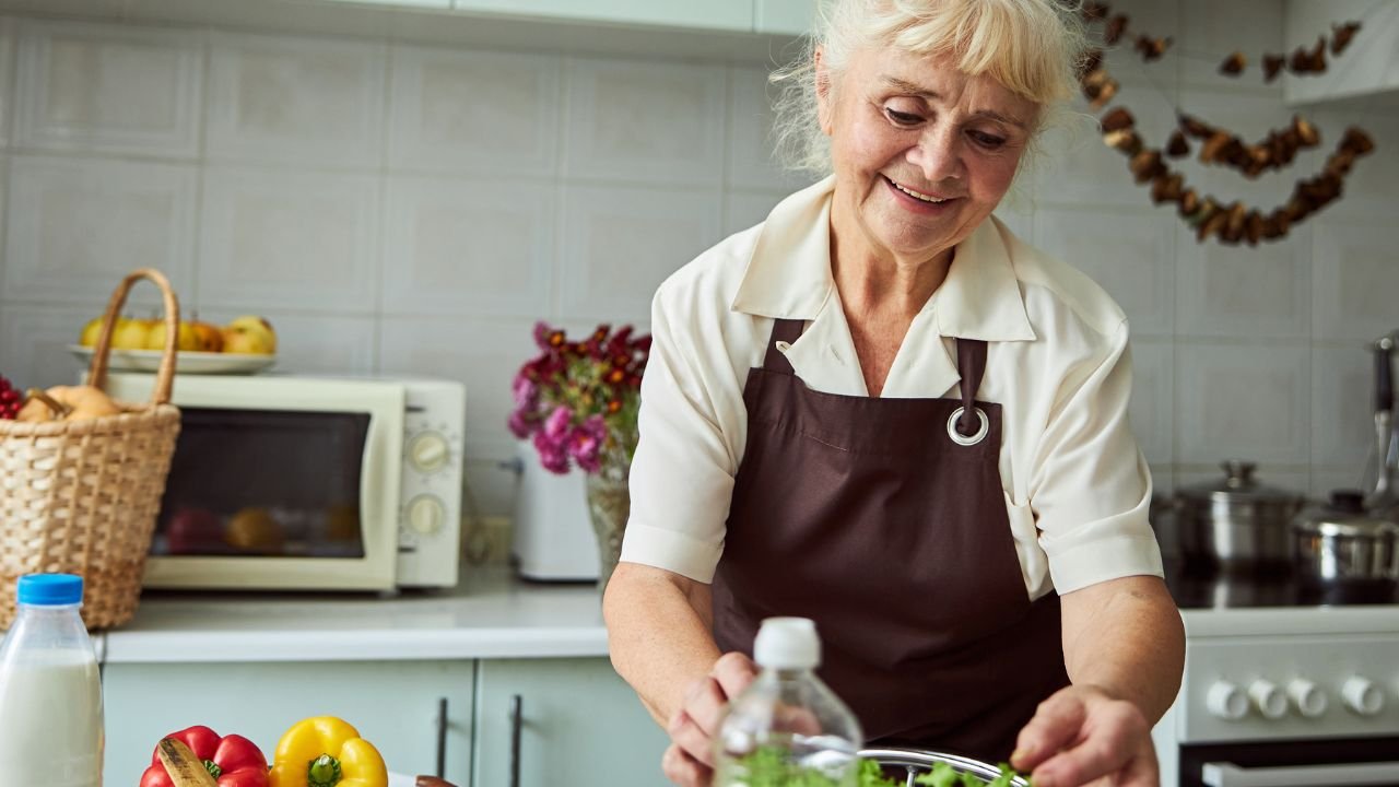
<svg viewBox="0 0 1399 787">
<path fill-rule="evenodd" d="M 727 353 L 711 346 L 718 332 L 705 330 L 690 311 L 694 304 L 667 298 L 666 287 L 652 302 L 621 559 L 709 583 L 723 552 L 741 427 L 716 403 L 719 388 L 734 384 Z"/>
</svg>

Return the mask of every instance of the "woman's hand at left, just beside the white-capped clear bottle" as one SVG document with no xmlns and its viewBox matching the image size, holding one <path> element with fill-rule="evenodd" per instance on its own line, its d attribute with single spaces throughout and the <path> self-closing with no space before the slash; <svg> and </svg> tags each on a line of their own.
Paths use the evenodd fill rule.
<svg viewBox="0 0 1399 787">
<path fill-rule="evenodd" d="M 670 718 L 670 748 L 660 760 L 666 779 L 680 787 L 709 787 L 713 779 L 713 737 L 729 700 L 757 676 L 758 668 L 741 653 L 726 653 L 713 669 L 690 685 L 684 704 Z"/>
</svg>

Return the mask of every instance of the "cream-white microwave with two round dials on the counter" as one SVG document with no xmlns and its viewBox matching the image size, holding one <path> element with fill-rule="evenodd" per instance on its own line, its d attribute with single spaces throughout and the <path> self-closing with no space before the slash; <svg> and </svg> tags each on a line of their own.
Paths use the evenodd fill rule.
<svg viewBox="0 0 1399 787">
<path fill-rule="evenodd" d="M 154 374 L 112 372 L 148 401 Z M 460 567 L 460 382 L 175 377 L 180 433 L 143 584 L 189 590 L 453 587 Z"/>
</svg>

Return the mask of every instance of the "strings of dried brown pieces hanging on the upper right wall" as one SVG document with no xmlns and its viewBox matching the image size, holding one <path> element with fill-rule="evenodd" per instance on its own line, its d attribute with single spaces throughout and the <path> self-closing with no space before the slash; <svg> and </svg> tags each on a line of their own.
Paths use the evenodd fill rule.
<svg viewBox="0 0 1399 787">
<path fill-rule="evenodd" d="M 1112 14 L 1107 3 L 1086 3 L 1081 14 L 1088 22 L 1102 24 L 1102 41 L 1115 45 L 1132 35 L 1126 14 Z M 1290 57 L 1274 53 L 1263 55 L 1263 78 L 1273 81 L 1281 71 L 1293 74 L 1318 74 L 1326 70 L 1326 50 L 1340 55 L 1350 45 L 1360 22 L 1332 25 L 1328 43 L 1321 36 L 1311 49 L 1298 48 Z M 1153 38 L 1139 34 L 1133 39 L 1133 50 L 1144 63 L 1158 60 L 1170 50 L 1170 38 Z M 1220 66 L 1226 76 L 1240 76 L 1247 70 L 1248 59 L 1242 52 L 1234 52 Z M 1116 98 L 1121 84 L 1108 73 L 1102 63 L 1102 52 L 1094 50 L 1080 71 L 1080 90 L 1094 111 L 1102 109 Z M 1270 169 L 1281 169 L 1293 162 L 1297 151 L 1321 144 L 1321 132 L 1301 115 L 1294 115 L 1286 129 L 1273 129 L 1265 139 L 1247 141 L 1227 129 L 1220 129 L 1196 116 L 1177 109 L 1177 127 L 1170 132 L 1163 148 L 1147 146 L 1136 127 L 1136 118 L 1125 106 L 1116 106 L 1100 120 L 1102 141 L 1121 151 L 1128 158 L 1133 179 L 1150 186 L 1151 202 L 1156 204 L 1175 203 L 1181 218 L 1195 228 L 1195 238 L 1205 242 L 1216 238 L 1221 244 L 1258 245 L 1260 241 L 1274 241 L 1287 235 L 1293 225 L 1340 197 L 1346 176 L 1361 155 L 1375 148 L 1364 130 L 1349 127 L 1326 158 L 1322 171 L 1308 179 L 1301 179 L 1293 188 L 1287 202 L 1272 209 L 1244 204 L 1241 200 L 1226 203 L 1212 195 L 1200 195 L 1186 183 L 1185 176 L 1172 169 L 1168 158 L 1184 158 L 1196 150 L 1196 158 L 1206 165 L 1228 167 L 1245 178 L 1258 178 Z M 1192 148 L 1191 140 L 1195 140 Z"/>
</svg>

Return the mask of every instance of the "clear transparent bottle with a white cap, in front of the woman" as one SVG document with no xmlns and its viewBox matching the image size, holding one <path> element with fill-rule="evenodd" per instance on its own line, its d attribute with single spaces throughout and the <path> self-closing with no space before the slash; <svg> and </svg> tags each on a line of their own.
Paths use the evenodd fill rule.
<svg viewBox="0 0 1399 787">
<path fill-rule="evenodd" d="M 816 623 L 765 619 L 753 657 L 758 676 L 729 704 L 715 738 L 715 786 L 855 787 L 865 735 L 851 709 L 816 675 Z"/>
</svg>

